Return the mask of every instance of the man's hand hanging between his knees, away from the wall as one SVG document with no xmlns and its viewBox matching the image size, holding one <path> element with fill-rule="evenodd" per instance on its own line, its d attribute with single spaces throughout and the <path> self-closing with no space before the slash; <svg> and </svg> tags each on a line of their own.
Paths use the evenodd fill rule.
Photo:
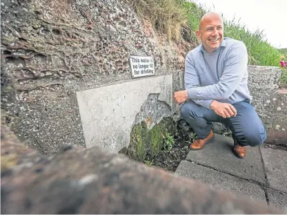
<svg viewBox="0 0 287 215">
<path fill-rule="evenodd" d="M 230 118 L 237 115 L 237 111 L 232 104 L 221 103 L 213 100 L 210 104 L 210 108 L 215 111 L 217 115 L 220 115 L 223 118 Z"/>
</svg>

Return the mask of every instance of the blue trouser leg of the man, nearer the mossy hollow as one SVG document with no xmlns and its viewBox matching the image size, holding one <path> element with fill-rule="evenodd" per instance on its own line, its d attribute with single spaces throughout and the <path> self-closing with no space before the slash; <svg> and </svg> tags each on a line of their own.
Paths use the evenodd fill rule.
<svg viewBox="0 0 287 215">
<path fill-rule="evenodd" d="M 220 116 L 204 106 L 188 100 L 181 106 L 181 117 L 188 122 L 199 139 L 205 139 L 212 127 L 211 122 L 220 122 Z"/>
</svg>

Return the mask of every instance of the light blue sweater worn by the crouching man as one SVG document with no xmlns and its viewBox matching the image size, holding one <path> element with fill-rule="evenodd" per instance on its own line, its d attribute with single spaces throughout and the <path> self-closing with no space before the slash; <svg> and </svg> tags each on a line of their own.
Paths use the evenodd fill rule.
<svg viewBox="0 0 287 215">
<path fill-rule="evenodd" d="M 252 100 L 247 86 L 248 54 L 242 41 L 224 37 L 214 53 L 202 44 L 186 56 L 184 85 L 188 97 L 210 109 L 212 100 L 233 104 Z"/>
</svg>

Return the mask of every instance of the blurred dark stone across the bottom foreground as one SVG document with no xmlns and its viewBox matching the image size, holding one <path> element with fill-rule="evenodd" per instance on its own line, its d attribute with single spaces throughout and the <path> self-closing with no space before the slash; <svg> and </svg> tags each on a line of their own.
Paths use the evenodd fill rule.
<svg viewBox="0 0 287 215">
<path fill-rule="evenodd" d="M 1 128 L 1 214 L 234 213 L 284 212 L 99 148 L 46 158 Z"/>
</svg>

